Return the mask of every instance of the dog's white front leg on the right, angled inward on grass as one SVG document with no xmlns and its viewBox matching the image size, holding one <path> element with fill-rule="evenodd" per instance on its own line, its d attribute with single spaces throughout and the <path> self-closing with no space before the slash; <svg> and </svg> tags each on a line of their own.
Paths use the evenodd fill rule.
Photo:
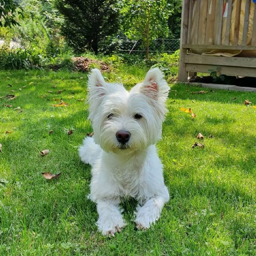
<svg viewBox="0 0 256 256">
<path fill-rule="evenodd" d="M 151 225 L 159 219 L 166 201 L 168 201 L 166 197 L 157 196 L 146 201 L 142 207 L 137 207 L 137 212 L 135 213 L 135 224 L 137 228 L 147 230 L 151 227 Z"/>
</svg>

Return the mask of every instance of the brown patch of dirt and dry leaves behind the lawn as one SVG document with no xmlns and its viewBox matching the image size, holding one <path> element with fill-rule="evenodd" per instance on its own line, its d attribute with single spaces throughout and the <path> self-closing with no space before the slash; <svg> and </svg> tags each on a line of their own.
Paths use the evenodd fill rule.
<svg viewBox="0 0 256 256">
<path fill-rule="evenodd" d="M 85 57 L 74 57 L 72 61 L 75 64 L 75 69 L 83 72 L 88 72 L 92 68 L 98 68 L 101 71 L 110 71 L 110 67 L 103 61 L 98 61 Z"/>
</svg>

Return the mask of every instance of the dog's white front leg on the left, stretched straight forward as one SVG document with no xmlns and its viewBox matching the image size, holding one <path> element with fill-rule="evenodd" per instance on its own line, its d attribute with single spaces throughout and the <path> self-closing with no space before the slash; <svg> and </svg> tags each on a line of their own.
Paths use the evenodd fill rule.
<svg viewBox="0 0 256 256">
<path fill-rule="evenodd" d="M 119 204 L 116 201 L 97 201 L 97 212 L 99 214 L 97 226 L 103 236 L 114 236 L 125 226 L 122 214 L 119 211 Z"/>
</svg>

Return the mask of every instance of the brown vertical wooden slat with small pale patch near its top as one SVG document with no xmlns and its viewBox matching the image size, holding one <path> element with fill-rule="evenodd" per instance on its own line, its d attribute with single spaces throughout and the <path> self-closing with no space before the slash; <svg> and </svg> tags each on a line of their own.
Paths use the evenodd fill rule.
<svg viewBox="0 0 256 256">
<path fill-rule="evenodd" d="M 216 0 L 208 0 L 205 44 L 212 44 Z"/>
</svg>

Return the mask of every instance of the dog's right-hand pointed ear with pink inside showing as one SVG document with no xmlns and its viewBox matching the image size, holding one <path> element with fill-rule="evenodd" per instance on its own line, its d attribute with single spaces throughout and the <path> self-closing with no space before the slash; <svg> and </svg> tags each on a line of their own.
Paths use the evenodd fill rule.
<svg viewBox="0 0 256 256">
<path fill-rule="evenodd" d="M 169 92 L 169 86 L 163 78 L 159 68 L 153 68 L 148 71 L 140 87 L 140 93 L 155 99 L 166 101 Z"/>
</svg>

